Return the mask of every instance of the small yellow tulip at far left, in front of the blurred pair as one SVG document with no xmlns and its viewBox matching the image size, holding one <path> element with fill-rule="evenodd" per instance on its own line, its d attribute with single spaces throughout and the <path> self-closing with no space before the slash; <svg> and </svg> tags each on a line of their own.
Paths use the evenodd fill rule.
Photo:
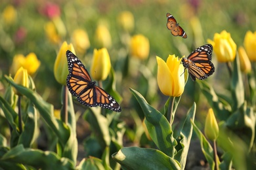
<svg viewBox="0 0 256 170">
<path fill-rule="evenodd" d="M 28 88 L 29 87 L 28 71 L 26 69 L 24 69 L 23 67 L 20 67 L 20 69 L 18 69 L 18 71 L 16 72 L 16 74 L 14 76 L 14 82 L 16 84 L 20 84 L 20 85 Z M 19 92 L 16 91 L 15 88 L 14 88 L 14 93 L 16 93 L 17 95 L 21 95 Z"/>
</svg>

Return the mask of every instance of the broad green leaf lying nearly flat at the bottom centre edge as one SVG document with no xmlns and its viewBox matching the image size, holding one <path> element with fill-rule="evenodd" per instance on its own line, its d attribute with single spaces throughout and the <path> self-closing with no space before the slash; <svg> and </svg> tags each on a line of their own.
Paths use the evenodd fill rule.
<svg viewBox="0 0 256 170">
<path fill-rule="evenodd" d="M 179 163 L 160 150 L 152 148 L 121 148 L 112 158 L 122 169 L 181 169 Z"/>
</svg>

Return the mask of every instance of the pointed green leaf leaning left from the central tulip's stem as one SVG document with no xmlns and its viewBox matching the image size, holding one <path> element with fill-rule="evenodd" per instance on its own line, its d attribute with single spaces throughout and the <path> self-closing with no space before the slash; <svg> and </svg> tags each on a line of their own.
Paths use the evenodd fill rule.
<svg viewBox="0 0 256 170">
<path fill-rule="evenodd" d="M 173 131 L 171 131 L 169 122 L 161 112 L 150 106 L 139 92 L 133 89 L 131 89 L 131 92 L 144 112 L 146 117 L 145 124 L 150 137 L 162 152 L 173 157 L 175 153 L 173 146 L 175 139 L 173 139 Z"/>
</svg>

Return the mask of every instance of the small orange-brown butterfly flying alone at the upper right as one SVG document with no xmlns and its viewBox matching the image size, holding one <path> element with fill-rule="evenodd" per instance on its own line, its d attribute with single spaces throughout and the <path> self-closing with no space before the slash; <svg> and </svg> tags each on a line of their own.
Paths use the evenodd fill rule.
<svg viewBox="0 0 256 170">
<path fill-rule="evenodd" d="M 167 28 L 169 30 L 171 30 L 171 34 L 174 36 L 181 36 L 184 39 L 186 39 L 186 37 L 188 37 L 185 33 L 185 31 L 182 29 L 181 26 L 179 26 L 179 24 L 177 23 L 177 21 L 175 20 L 175 18 L 170 14 L 167 13 L 166 14 L 167 17 Z"/>
</svg>

